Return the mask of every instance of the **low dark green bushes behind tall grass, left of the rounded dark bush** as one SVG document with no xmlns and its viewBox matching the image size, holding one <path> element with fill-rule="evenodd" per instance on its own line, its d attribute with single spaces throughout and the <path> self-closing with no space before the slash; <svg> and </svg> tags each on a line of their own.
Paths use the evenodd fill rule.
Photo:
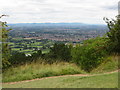
<svg viewBox="0 0 120 90">
<path fill-rule="evenodd" d="M 26 63 L 31 63 L 33 61 L 37 61 L 38 58 L 42 56 L 42 51 L 38 50 L 37 53 L 33 53 L 32 55 L 26 56 L 23 52 L 18 51 L 11 51 L 11 56 L 9 62 L 11 63 L 10 66 L 17 66 L 23 65 Z"/>
</svg>

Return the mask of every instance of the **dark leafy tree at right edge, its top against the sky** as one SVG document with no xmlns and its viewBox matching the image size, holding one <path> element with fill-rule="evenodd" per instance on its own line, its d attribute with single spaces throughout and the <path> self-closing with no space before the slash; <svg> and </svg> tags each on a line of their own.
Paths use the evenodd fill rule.
<svg viewBox="0 0 120 90">
<path fill-rule="evenodd" d="M 120 53 L 120 19 L 117 17 L 116 20 L 108 18 L 104 18 L 104 20 L 109 28 L 109 32 L 107 32 L 109 51 Z"/>
</svg>

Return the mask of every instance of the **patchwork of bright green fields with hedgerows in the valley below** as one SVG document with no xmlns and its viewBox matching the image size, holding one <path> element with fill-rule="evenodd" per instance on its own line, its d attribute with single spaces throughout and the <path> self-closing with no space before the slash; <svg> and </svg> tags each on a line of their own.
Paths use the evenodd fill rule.
<svg viewBox="0 0 120 90">
<path fill-rule="evenodd" d="M 33 49 L 42 50 L 43 54 L 48 53 L 48 47 L 52 46 L 52 41 L 25 40 L 24 38 L 13 38 L 9 42 L 12 51 L 23 52 L 25 54 L 35 53 Z M 24 48 L 26 46 L 26 48 Z"/>
</svg>

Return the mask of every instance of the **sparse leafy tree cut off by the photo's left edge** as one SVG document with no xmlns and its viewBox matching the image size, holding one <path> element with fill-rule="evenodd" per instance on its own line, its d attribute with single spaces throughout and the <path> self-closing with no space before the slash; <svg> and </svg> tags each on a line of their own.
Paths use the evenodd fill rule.
<svg viewBox="0 0 120 90">
<path fill-rule="evenodd" d="M 3 16 L 7 16 L 7 15 L 1 15 L 0 18 L 2 18 Z M 7 67 L 7 65 L 9 65 L 9 57 L 10 57 L 10 52 L 9 52 L 9 46 L 8 46 L 8 32 L 10 31 L 10 29 L 6 29 L 7 26 L 7 22 L 2 22 L 1 23 L 1 34 L 2 34 L 2 68 Z"/>
</svg>

